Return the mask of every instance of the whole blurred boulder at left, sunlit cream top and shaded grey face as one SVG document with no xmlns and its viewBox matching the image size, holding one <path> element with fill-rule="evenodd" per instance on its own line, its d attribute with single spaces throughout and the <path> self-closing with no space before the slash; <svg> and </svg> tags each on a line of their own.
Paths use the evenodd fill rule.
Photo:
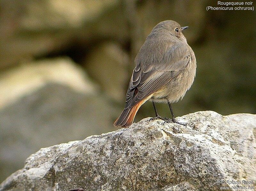
<svg viewBox="0 0 256 191">
<path fill-rule="evenodd" d="M 116 109 L 71 59 L 13 69 L 0 89 L 0 182 L 42 147 L 115 130 Z"/>
</svg>

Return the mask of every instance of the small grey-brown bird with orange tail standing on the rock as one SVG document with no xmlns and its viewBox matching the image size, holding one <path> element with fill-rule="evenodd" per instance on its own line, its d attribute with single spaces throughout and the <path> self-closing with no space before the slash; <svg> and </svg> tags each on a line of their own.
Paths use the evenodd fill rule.
<svg viewBox="0 0 256 191">
<path fill-rule="evenodd" d="M 165 20 L 152 29 L 134 59 L 124 110 L 114 122 L 115 127 L 129 127 L 140 106 L 148 100 L 156 114 L 150 120 L 186 125 L 175 119 L 171 104 L 184 97 L 196 76 L 196 57 L 182 33 L 187 28 Z M 159 116 L 155 102 L 168 103 L 172 119 Z"/>
</svg>

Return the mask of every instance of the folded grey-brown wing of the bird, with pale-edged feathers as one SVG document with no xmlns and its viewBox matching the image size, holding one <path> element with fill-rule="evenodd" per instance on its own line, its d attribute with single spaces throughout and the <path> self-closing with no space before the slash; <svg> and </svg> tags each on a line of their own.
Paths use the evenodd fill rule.
<svg viewBox="0 0 256 191">
<path fill-rule="evenodd" d="M 190 47 L 169 48 L 159 64 L 141 66 L 140 63 L 134 68 L 132 78 L 126 93 L 125 109 L 134 107 L 139 101 L 147 98 L 167 84 L 184 70 L 190 61 Z"/>
</svg>

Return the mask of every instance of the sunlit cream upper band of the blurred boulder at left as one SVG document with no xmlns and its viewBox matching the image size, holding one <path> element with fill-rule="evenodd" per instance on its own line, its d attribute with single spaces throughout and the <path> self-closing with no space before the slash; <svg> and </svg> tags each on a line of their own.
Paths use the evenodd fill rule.
<svg viewBox="0 0 256 191">
<path fill-rule="evenodd" d="M 1 75 L 0 109 L 49 82 L 63 84 L 87 95 L 96 93 L 96 85 L 70 58 L 44 59 L 23 64 Z"/>
</svg>

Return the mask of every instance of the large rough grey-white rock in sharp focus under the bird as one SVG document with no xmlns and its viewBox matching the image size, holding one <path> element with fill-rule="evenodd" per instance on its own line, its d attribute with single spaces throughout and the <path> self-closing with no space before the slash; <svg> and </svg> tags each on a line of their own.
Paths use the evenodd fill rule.
<svg viewBox="0 0 256 191">
<path fill-rule="evenodd" d="M 256 187 L 256 115 L 178 117 L 187 127 L 148 119 L 43 148 L 0 190 L 220 190 L 234 186 L 227 180 Z"/>
</svg>

